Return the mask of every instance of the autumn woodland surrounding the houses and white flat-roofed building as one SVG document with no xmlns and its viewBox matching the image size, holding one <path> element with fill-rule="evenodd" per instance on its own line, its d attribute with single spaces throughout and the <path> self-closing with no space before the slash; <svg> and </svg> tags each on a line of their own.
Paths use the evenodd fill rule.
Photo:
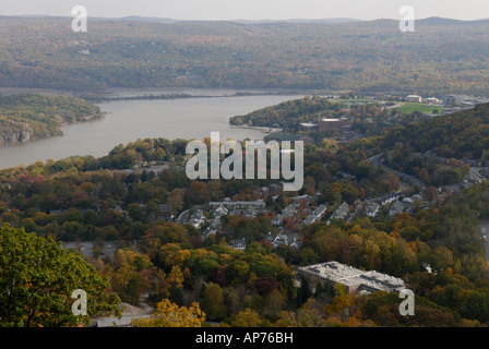
<svg viewBox="0 0 489 349">
<path fill-rule="evenodd" d="M 373 140 L 362 142 L 367 148 Z M 489 323 L 488 266 L 477 227 L 479 215 L 488 217 L 487 183 L 444 203 L 415 205 L 413 213 L 321 220 L 305 227 L 294 221 L 298 215 L 286 222 L 301 238 L 298 248 L 274 246 L 266 239 L 277 233 L 272 218 L 297 193 L 282 193 L 275 200 L 264 194 L 265 212 L 254 217 L 228 213 L 222 217 L 222 230 L 204 239 L 203 226 L 162 218 L 162 206 L 179 217 L 226 196 L 252 201 L 262 197 L 261 188 L 270 181 L 192 181 L 176 166 L 186 161 L 184 145 L 183 140 L 139 140 L 99 159 L 72 157 L 4 169 L 0 222 L 58 241 L 95 241 L 86 261 L 108 277 L 111 291 L 122 301 L 139 304 L 150 292 L 147 301 L 162 301 L 162 312 L 177 304 L 199 313 L 191 305 L 198 302 L 205 320 L 225 326 Z M 342 202 L 354 205 L 375 191 L 395 190 L 395 174 L 362 164 L 367 155 L 358 146 L 337 153 L 315 145 L 308 148 L 300 193 L 319 193 L 315 205 L 336 207 Z M 134 165 L 163 159 L 174 165 L 159 172 L 132 170 Z M 358 173 L 358 182 L 342 171 Z M 206 218 L 208 222 L 211 217 Z M 243 251 L 228 245 L 242 238 L 248 242 Z M 104 241 L 118 241 L 114 257 L 102 255 Z M 398 314 L 396 294 L 347 294 L 338 287 L 303 280 L 300 287 L 295 285 L 296 267 L 324 261 L 403 277 L 416 293 L 416 315 Z M 428 273 L 427 265 L 434 273 Z"/>
</svg>

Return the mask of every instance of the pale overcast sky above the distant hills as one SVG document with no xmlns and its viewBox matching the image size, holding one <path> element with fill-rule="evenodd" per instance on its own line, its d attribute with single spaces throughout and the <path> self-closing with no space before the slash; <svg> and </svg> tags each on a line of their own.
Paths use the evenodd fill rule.
<svg viewBox="0 0 489 349">
<path fill-rule="evenodd" d="M 488 0 L 0 0 L 1 15 L 71 16 L 84 5 L 88 16 L 127 15 L 177 20 L 399 19 L 403 5 L 417 19 L 489 19 Z"/>
</svg>

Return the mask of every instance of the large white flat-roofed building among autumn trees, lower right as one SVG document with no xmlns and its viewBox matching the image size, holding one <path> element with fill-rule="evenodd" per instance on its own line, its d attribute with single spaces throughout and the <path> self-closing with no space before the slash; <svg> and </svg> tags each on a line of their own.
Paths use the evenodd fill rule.
<svg viewBox="0 0 489 349">
<path fill-rule="evenodd" d="M 397 277 L 375 270 L 361 270 L 335 261 L 299 267 L 297 273 L 310 281 L 341 284 L 350 293 L 377 291 L 390 293 L 405 288 L 404 280 Z"/>
</svg>

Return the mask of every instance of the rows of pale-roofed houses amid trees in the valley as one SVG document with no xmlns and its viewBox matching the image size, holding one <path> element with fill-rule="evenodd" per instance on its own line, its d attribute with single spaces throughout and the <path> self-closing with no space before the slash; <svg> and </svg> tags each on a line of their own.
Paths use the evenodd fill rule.
<svg viewBox="0 0 489 349">
<path fill-rule="evenodd" d="M 378 166 L 383 166 L 381 156 L 372 157 L 369 160 Z M 438 188 L 438 197 L 442 198 L 455 194 L 474 183 L 481 182 L 489 177 L 489 168 L 487 169 L 488 173 L 481 173 L 481 170 L 484 169 L 486 168 L 472 168 L 470 173 L 464 178 L 462 183 Z M 300 239 L 297 236 L 297 231 L 317 221 L 331 224 L 334 219 L 342 219 L 351 222 L 361 216 L 374 218 L 379 216 L 380 213 L 394 216 L 404 212 L 413 213 L 415 206 L 418 204 L 429 204 L 425 201 L 425 197 L 421 196 L 421 192 L 426 189 L 425 183 L 417 178 L 412 179 L 412 177 L 406 173 L 398 172 L 398 174 L 403 176 L 401 178 L 404 183 L 409 184 L 404 186 L 415 188 L 418 193 L 413 194 L 410 190 L 403 190 L 380 197 L 357 201 L 355 205 L 349 205 L 348 203 L 343 202 L 337 207 L 317 203 L 319 194 L 306 194 L 291 197 L 291 202 L 276 215 L 274 212 L 270 210 L 270 207 L 266 206 L 266 203 L 263 200 L 234 202 L 227 197 L 222 202 L 210 202 L 205 207 L 195 207 L 192 215 L 187 219 L 187 224 L 190 224 L 198 229 L 203 229 L 202 237 L 203 239 L 206 239 L 210 234 L 219 232 L 222 228 L 220 218 L 224 215 L 237 215 L 252 219 L 262 213 L 269 213 L 272 217 L 272 225 L 276 227 L 278 233 L 270 232 L 263 238 L 269 240 L 275 248 L 281 244 L 299 246 Z M 415 180 L 418 180 L 419 182 Z M 279 192 L 279 184 L 269 185 L 261 189 L 261 197 L 271 195 L 275 200 Z M 246 241 L 232 240 L 230 245 L 237 250 L 243 250 L 246 249 Z"/>
</svg>

